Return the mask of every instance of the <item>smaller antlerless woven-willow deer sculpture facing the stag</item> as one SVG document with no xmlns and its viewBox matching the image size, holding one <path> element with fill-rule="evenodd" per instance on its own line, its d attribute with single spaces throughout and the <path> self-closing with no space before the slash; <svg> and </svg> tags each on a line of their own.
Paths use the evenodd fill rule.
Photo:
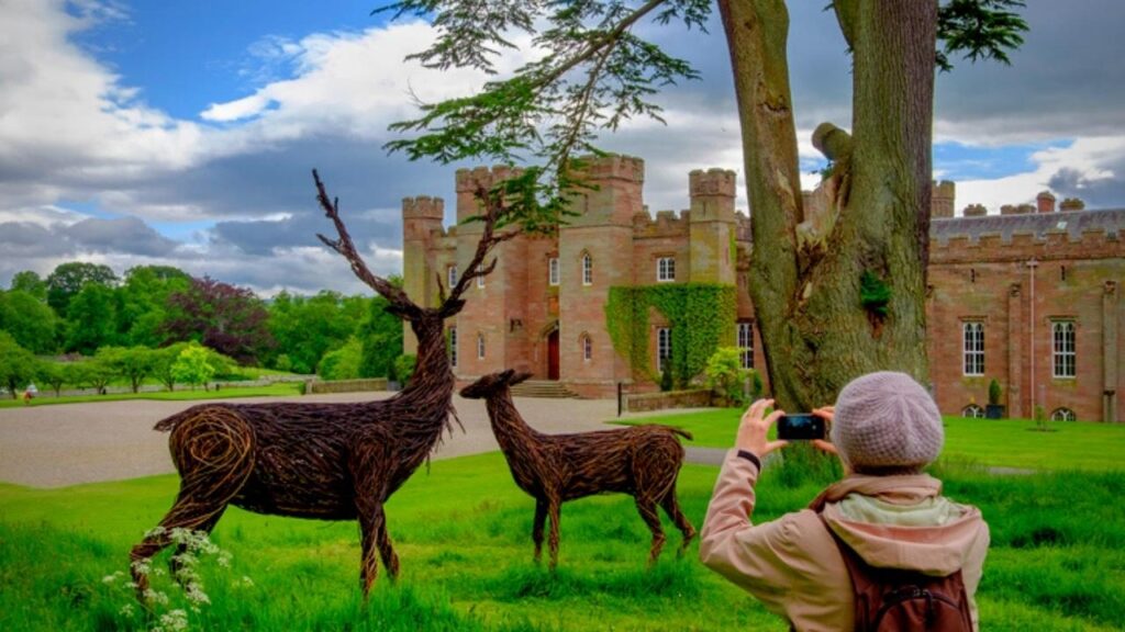
<svg viewBox="0 0 1125 632">
<path fill-rule="evenodd" d="M 512 478 L 536 499 L 531 539 L 536 561 L 543 548 L 543 523 L 551 518 L 550 568 L 558 566 L 559 509 L 562 503 L 616 491 L 631 495 L 640 517 L 652 532 L 648 561 L 656 562 L 665 535 L 656 506 L 684 534 L 680 554 L 695 538 L 695 527 L 680 511 L 676 476 L 684 462 L 684 448 L 676 435 L 691 440 L 678 428 L 660 425 L 632 426 L 575 434 L 542 434 L 529 426 L 512 401 L 513 385 L 530 373 L 507 370 L 492 373 L 461 389 L 461 396 L 484 399 L 493 433 L 500 443 Z"/>
</svg>

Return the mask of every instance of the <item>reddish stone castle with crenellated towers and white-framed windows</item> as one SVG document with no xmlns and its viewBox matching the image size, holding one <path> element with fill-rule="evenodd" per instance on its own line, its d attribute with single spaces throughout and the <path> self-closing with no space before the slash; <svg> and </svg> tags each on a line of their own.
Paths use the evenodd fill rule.
<svg viewBox="0 0 1125 632">
<path fill-rule="evenodd" d="M 457 172 L 457 225 L 443 226 L 440 198 L 403 200 L 404 281 L 422 305 L 451 287 L 472 255 L 483 226 L 474 191 L 511 175 L 505 168 Z M 587 397 L 655 389 L 673 356 L 673 323 L 650 308 L 647 362 L 619 353 L 608 325 L 611 288 L 698 285 L 729 288 L 729 336 L 746 367 L 765 359 L 748 292 L 749 219 L 735 210 L 736 179 L 712 169 L 688 175 L 690 209 L 650 216 L 644 162 L 611 155 L 591 166 L 596 187 L 576 198 L 577 215 L 550 236 L 521 235 L 496 250 L 497 265 L 469 290 L 448 325 L 459 380 L 513 368 L 558 380 Z M 927 287 L 930 378 L 945 414 L 979 416 L 989 382 L 1002 387 L 1007 415 L 1030 417 L 1036 405 L 1056 419 L 1125 418 L 1125 209 L 1084 210 L 1077 200 L 1041 193 L 1037 205 L 988 216 L 970 206 L 955 217 L 955 188 L 933 193 Z M 807 193 L 808 204 L 817 204 Z M 407 353 L 413 344 L 407 332 Z M 647 345 L 647 350 L 644 345 Z M 629 354 L 624 354 L 629 355 Z M 636 354 L 633 354 L 636 355 Z M 764 372 L 764 371 L 763 371 Z"/>
</svg>

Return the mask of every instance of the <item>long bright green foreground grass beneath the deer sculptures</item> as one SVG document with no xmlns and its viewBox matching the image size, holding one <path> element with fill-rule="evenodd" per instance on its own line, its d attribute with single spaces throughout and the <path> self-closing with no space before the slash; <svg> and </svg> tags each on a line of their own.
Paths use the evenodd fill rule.
<svg viewBox="0 0 1125 632">
<path fill-rule="evenodd" d="M 680 495 L 699 526 L 718 470 L 685 466 Z M 986 630 L 1112 630 L 1125 620 L 1125 472 L 994 477 L 940 472 L 946 493 L 979 505 L 993 545 L 979 593 Z M 132 596 L 101 578 L 177 489 L 174 476 L 36 490 L 0 485 L 0 629 L 119 630 Z M 818 486 L 784 487 L 770 471 L 757 520 L 807 504 Z M 698 549 L 676 560 L 678 533 L 646 570 L 648 532 L 631 498 L 562 511 L 557 574 L 531 562 L 532 500 L 498 453 L 436 461 L 387 507 L 402 559 L 359 598 L 354 523 L 259 516 L 232 508 L 214 540 L 232 569 L 208 568 L 206 630 L 785 630 L 754 599 L 704 569 Z M 165 553 L 166 557 L 166 553 Z M 163 563 L 160 559 L 160 563 Z M 237 579 L 249 576 L 252 587 Z"/>
</svg>

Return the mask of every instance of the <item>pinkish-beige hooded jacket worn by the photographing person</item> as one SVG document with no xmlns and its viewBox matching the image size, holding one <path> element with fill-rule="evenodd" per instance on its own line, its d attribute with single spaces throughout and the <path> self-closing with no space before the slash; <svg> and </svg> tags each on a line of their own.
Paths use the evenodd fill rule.
<svg viewBox="0 0 1125 632">
<path fill-rule="evenodd" d="M 796 630 L 853 630 L 852 580 L 831 535 L 812 509 L 753 524 L 758 468 L 727 454 L 700 542 L 703 563 L 758 598 Z M 973 595 L 988 551 L 978 508 L 940 496 L 927 475 L 849 476 L 813 500 L 825 520 L 867 563 L 945 576 L 962 569 Z"/>
</svg>

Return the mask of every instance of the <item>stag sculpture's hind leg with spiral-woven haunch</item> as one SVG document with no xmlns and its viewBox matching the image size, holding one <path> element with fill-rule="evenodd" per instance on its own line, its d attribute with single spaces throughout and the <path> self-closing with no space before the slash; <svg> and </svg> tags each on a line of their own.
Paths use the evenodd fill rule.
<svg viewBox="0 0 1125 632">
<path fill-rule="evenodd" d="M 210 532 L 254 469 L 254 434 L 234 413 L 208 408 L 181 421 L 170 437 L 172 460 L 180 471 L 180 493 L 155 530 L 129 551 L 137 596 L 148 578 L 138 566 L 172 543 L 173 529 Z M 177 554 L 182 553 L 178 550 Z M 173 571 L 176 556 L 172 559 Z"/>
</svg>

